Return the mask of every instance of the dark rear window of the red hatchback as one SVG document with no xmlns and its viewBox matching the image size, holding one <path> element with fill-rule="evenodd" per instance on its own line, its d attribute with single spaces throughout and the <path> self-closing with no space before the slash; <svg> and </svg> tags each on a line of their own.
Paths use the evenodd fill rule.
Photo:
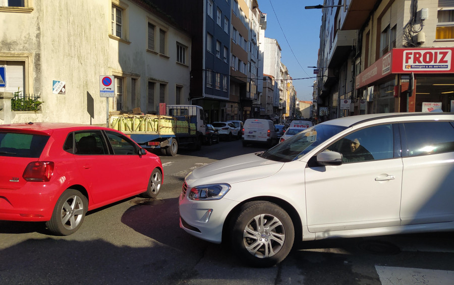
<svg viewBox="0 0 454 285">
<path fill-rule="evenodd" d="M 48 139 L 45 135 L 0 132 L 0 156 L 38 158 Z"/>
</svg>

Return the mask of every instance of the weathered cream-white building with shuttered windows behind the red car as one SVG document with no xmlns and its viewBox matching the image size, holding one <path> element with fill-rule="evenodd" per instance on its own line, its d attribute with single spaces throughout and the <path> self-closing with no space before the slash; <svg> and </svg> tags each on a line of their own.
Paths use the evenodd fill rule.
<svg viewBox="0 0 454 285">
<path fill-rule="evenodd" d="M 25 0 L 17 5 L 22 7 L 0 0 L 0 68 L 6 74 L 0 92 L 37 94 L 43 103 L 38 111 L 0 114 L 0 124 L 103 125 L 107 99 L 100 97 L 101 75 L 115 77 L 108 111 L 156 112 L 160 102 L 189 103 L 191 37 L 143 2 Z M 59 83 L 64 88 L 54 90 Z"/>
</svg>

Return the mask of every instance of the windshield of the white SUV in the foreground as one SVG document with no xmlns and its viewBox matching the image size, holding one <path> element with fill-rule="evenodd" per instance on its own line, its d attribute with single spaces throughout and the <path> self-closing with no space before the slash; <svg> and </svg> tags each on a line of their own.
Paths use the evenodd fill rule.
<svg viewBox="0 0 454 285">
<path fill-rule="evenodd" d="M 315 125 L 261 153 L 260 157 L 289 162 L 300 158 L 317 145 L 345 129 L 347 128 L 342 126 Z"/>
</svg>

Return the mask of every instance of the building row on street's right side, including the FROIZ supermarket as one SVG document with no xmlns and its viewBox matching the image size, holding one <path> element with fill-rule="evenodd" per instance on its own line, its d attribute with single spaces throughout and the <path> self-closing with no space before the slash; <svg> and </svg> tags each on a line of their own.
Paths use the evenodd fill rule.
<svg viewBox="0 0 454 285">
<path fill-rule="evenodd" d="M 325 1 L 322 10 L 319 111 L 329 119 L 451 111 L 454 1 L 347 0 L 346 9 L 328 8 L 336 5 Z"/>
</svg>

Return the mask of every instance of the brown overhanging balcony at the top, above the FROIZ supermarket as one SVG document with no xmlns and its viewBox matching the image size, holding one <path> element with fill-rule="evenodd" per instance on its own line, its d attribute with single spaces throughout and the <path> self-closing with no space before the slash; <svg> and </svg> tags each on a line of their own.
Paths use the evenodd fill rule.
<svg viewBox="0 0 454 285">
<path fill-rule="evenodd" d="M 369 19 L 370 12 L 378 0 L 351 0 L 342 30 L 359 30 Z"/>
</svg>

